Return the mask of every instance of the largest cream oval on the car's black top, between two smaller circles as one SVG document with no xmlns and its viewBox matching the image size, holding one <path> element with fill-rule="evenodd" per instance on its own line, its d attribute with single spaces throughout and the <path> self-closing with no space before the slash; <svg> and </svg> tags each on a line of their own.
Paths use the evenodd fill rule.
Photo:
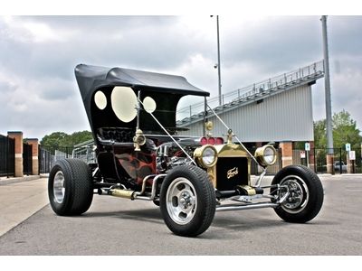
<svg viewBox="0 0 362 271">
<path fill-rule="evenodd" d="M 115 87 L 110 95 L 114 114 L 123 122 L 130 122 L 137 116 L 137 96 L 128 87 Z"/>
</svg>

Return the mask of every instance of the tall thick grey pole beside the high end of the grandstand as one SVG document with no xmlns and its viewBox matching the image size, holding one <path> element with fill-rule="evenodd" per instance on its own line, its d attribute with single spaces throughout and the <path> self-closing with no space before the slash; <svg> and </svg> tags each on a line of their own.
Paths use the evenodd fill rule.
<svg viewBox="0 0 362 271">
<path fill-rule="evenodd" d="M 330 79 L 329 79 L 329 51 L 328 51 L 328 37 L 327 37 L 327 16 L 323 15 L 320 18 L 322 22 L 322 35 L 323 35 L 323 56 L 324 56 L 324 87 L 326 95 L 326 120 L 327 120 L 327 168 L 333 168 L 333 131 L 332 131 L 332 102 L 330 98 Z M 333 170 L 330 170 L 333 172 Z"/>
</svg>

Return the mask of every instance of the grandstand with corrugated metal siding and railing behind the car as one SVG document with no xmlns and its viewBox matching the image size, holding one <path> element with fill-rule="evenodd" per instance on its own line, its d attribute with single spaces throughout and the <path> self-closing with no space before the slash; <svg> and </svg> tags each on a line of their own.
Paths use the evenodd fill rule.
<svg viewBox="0 0 362 271">
<path fill-rule="evenodd" d="M 311 86 L 323 76 L 323 61 L 319 61 L 224 94 L 223 105 L 214 107 L 214 111 L 245 143 L 313 141 Z M 218 98 L 209 99 L 208 104 L 214 101 Z M 179 116 L 189 114 L 177 121 L 178 127 L 189 128 L 179 135 L 204 134 L 203 107 L 200 103 L 178 111 Z M 226 134 L 211 110 L 207 117 L 214 123 L 213 136 Z"/>
</svg>

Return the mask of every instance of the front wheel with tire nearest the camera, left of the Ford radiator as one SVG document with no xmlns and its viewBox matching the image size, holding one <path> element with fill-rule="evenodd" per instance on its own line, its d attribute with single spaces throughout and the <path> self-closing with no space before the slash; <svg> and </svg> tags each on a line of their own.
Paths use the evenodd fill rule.
<svg viewBox="0 0 362 271">
<path fill-rule="evenodd" d="M 160 209 L 176 235 L 195 237 L 214 220 L 214 186 L 205 171 L 193 165 L 174 168 L 162 182 Z"/>
</svg>

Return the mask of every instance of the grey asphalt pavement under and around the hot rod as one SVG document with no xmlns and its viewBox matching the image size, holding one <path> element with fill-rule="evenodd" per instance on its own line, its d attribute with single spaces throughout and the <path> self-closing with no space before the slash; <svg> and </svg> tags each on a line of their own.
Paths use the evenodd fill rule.
<svg viewBox="0 0 362 271">
<path fill-rule="evenodd" d="M 56 216 L 49 205 L 38 210 L 0 237 L 0 255 L 360 256 L 362 175 L 319 177 L 324 205 L 306 224 L 286 223 L 272 209 L 216 212 L 204 234 L 182 238 L 152 202 L 95 195 L 81 217 Z"/>
</svg>

